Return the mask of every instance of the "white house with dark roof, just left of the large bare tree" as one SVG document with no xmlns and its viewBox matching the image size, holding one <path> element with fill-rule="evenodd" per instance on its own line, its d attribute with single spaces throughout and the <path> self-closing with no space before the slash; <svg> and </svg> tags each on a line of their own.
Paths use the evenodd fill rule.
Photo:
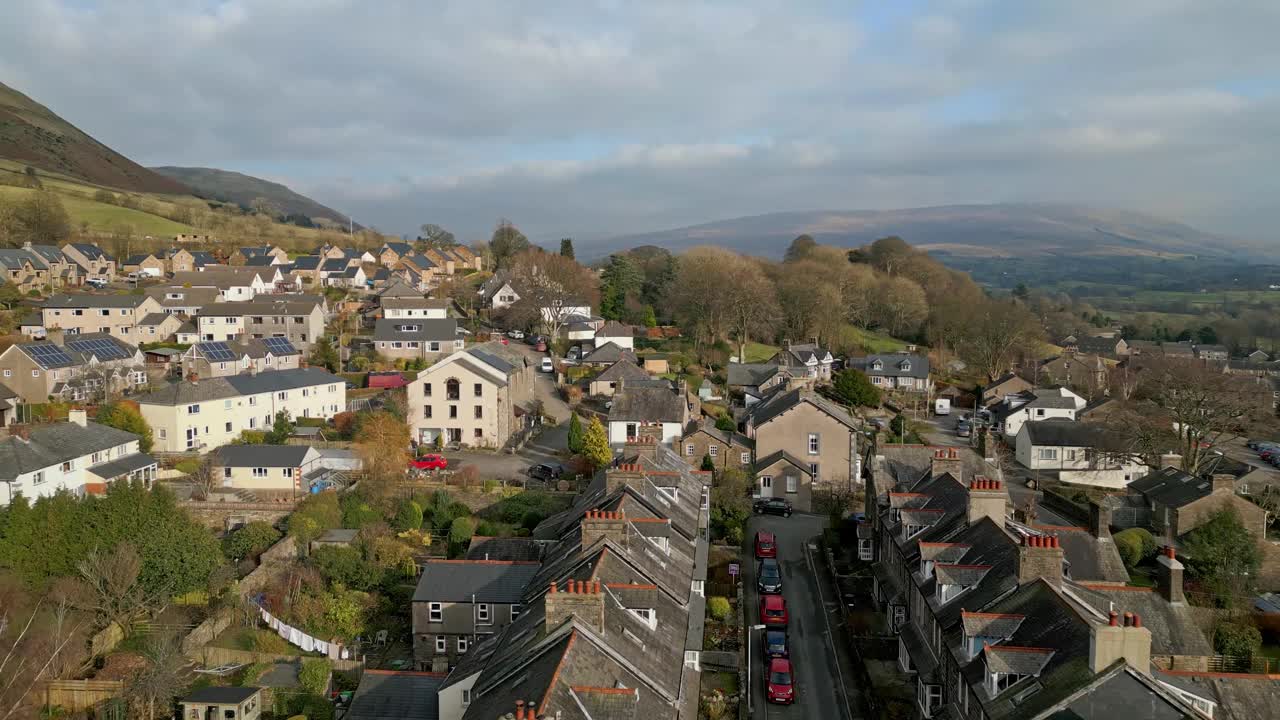
<svg viewBox="0 0 1280 720">
<path fill-rule="evenodd" d="M 1102 425 L 1065 419 L 1023 423 L 1015 447 L 1024 468 L 1056 473 L 1064 483 L 1123 488 L 1147 474 L 1147 465 Z"/>
</svg>

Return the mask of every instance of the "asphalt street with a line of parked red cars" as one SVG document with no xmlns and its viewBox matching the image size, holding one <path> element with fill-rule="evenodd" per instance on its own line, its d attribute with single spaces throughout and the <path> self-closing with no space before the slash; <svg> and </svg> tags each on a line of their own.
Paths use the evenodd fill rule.
<svg viewBox="0 0 1280 720">
<path fill-rule="evenodd" d="M 817 548 L 818 536 L 827 519 L 820 515 L 795 514 L 791 518 L 772 515 L 753 516 L 746 527 L 748 551 L 742 562 L 744 601 L 746 625 L 759 623 L 759 597 L 755 592 L 755 561 L 753 542 L 756 530 L 769 530 L 777 536 L 778 562 L 782 565 L 782 596 L 787 602 L 790 624 L 787 642 L 791 650 L 792 673 L 796 683 L 796 703 L 769 705 L 764 701 L 764 661 L 760 655 L 763 633 L 751 633 L 751 714 L 769 720 L 852 720 L 845 680 L 851 675 L 849 657 L 837 659 L 832 632 L 840 629 L 838 600 Z M 809 543 L 814 544 L 809 550 Z"/>
</svg>

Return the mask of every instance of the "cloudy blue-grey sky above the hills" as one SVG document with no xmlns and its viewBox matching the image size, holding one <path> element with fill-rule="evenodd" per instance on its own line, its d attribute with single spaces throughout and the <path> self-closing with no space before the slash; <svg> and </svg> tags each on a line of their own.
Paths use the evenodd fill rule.
<svg viewBox="0 0 1280 720">
<path fill-rule="evenodd" d="M 0 79 L 389 233 L 1053 201 L 1271 240 L 1275 0 L 9 0 Z"/>
</svg>

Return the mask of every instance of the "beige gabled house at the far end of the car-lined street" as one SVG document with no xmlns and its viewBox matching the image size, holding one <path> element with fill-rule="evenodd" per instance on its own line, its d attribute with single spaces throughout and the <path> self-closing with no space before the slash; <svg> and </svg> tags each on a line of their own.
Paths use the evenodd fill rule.
<svg viewBox="0 0 1280 720">
<path fill-rule="evenodd" d="M 786 497 L 808 511 L 815 491 L 851 492 L 861 477 L 860 436 L 849 413 L 818 393 L 774 389 L 746 414 L 746 437 L 755 442 L 755 497 Z"/>
</svg>

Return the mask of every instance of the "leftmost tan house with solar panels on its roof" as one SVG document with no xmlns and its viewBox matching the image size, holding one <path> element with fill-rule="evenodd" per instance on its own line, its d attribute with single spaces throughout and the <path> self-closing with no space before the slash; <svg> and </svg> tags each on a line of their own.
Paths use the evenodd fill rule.
<svg viewBox="0 0 1280 720">
<path fill-rule="evenodd" d="M 12 345 L 0 352 L 0 375 L 24 402 L 96 401 L 147 383 L 142 354 L 104 333 Z"/>
</svg>

